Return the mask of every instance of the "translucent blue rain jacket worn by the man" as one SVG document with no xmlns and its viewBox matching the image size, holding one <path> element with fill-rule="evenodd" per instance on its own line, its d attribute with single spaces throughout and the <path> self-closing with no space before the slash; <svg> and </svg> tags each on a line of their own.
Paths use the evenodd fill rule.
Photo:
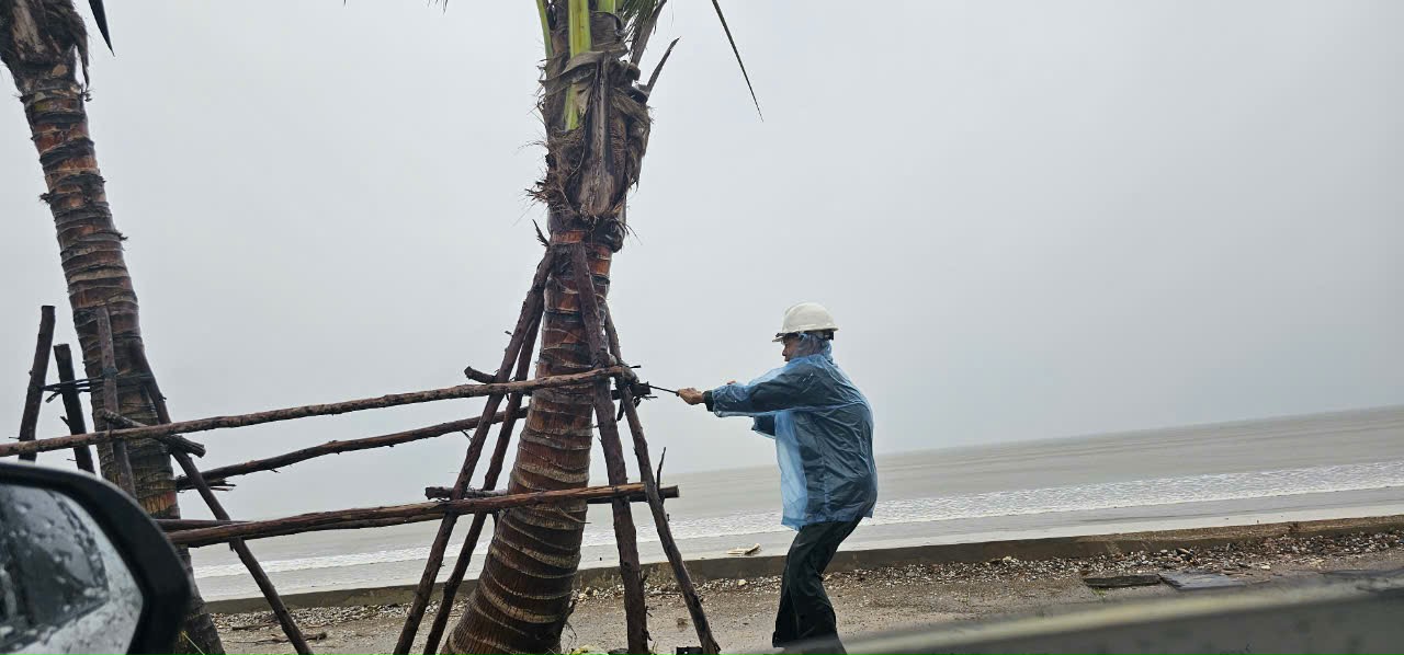
<svg viewBox="0 0 1404 655">
<path fill-rule="evenodd" d="M 782 523 L 795 530 L 872 516 L 878 504 L 872 405 L 834 363 L 830 341 L 803 339 L 799 352 L 809 355 L 712 390 L 717 417 L 753 417 L 753 429 L 775 439 Z"/>
</svg>

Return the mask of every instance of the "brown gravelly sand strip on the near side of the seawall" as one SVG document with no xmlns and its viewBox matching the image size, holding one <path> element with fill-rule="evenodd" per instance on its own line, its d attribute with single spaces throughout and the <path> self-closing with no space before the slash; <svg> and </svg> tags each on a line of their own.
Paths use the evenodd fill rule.
<svg viewBox="0 0 1404 655">
<path fill-rule="evenodd" d="M 1168 585 L 1092 589 L 1088 575 L 1212 571 L 1248 585 L 1313 576 L 1327 571 L 1404 567 L 1404 530 L 1345 536 L 1269 537 L 1209 548 L 1165 548 L 1092 558 L 977 564 L 907 565 L 827 576 L 845 638 L 863 633 L 939 626 L 1019 614 L 1075 612 L 1097 603 L 1174 596 Z M 702 585 L 708 616 L 726 651 L 769 647 L 776 578 L 717 579 Z M 623 645 L 619 588 L 580 589 L 563 647 Z M 650 586 L 650 634 L 656 652 L 696 642 L 681 597 L 671 586 Z M 435 607 L 431 606 L 431 613 Z M 461 607 L 455 607 L 455 617 Z M 390 652 L 404 619 L 403 605 L 293 610 L 319 652 Z M 234 655 L 291 652 L 267 612 L 216 616 L 225 647 Z M 424 630 L 416 652 L 423 648 Z"/>
</svg>

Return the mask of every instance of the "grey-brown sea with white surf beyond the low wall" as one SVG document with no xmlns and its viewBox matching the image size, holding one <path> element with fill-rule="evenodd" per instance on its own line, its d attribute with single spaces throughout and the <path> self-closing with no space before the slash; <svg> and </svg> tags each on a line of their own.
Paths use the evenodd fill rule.
<svg viewBox="0 0 1404 655">
<path fill-rule="evenodd" d="M 1404 513 L 1404 407 L 879 456 L 879 504 L 844 550 L 1213 527 Z M 667 474 L 688 560 L 760 546 L 782 554 L 775 467 Z M 663 561 L 649 512 L 639 553 Z M 491 522 L 489 522 L 491 525 Z M 438 522 L 251 541 L 282 593 L 418 581 Z M 482 568 L 487 532 L 469 564 Z M 466 523 L 448 548 L 453 567 Z M 197 548 L 206 600 L 257 596 L 226 547 Z M 618 562 L 608 505 L 592 505 L 581 567 Z"/>
</svg>

